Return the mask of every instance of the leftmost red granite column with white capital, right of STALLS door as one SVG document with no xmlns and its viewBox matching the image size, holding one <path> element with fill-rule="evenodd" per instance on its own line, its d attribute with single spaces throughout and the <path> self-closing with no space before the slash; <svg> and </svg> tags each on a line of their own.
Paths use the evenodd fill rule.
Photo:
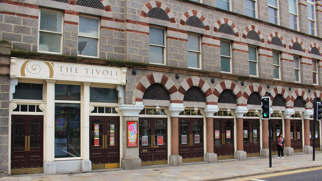
<svg viewBox="0 0 322 181">
<path fill-rule="evenodd" d="M 169 165 L 174 167 L 182 165 L 182 157 L 179 155 L 179 113 L 184 111 L 183 103 L 170 103 L 168 111 L 171 117 L 171 155 Z"/>
</svg>

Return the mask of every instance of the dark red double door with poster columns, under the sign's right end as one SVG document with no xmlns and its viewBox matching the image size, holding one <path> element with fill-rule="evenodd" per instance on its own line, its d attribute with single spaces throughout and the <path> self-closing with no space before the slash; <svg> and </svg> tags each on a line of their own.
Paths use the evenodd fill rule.
<svg viewBox="0 0 322 181">
<path fill-rule="evenodd" d="M 120 167 L 119 117 L 90 116 L 92 169 Z"/>
</svg>

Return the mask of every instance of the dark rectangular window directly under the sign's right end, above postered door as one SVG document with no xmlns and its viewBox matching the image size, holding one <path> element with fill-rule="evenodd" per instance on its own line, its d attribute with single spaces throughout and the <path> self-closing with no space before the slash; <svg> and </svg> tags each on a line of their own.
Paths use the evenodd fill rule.
<svg viewBox="0 0 322 181">
<path fill-rule="evenodd" d="M 90 87 L 90 102 L 118 103 L 118 91 L 113 88 Z"/>
</svg>

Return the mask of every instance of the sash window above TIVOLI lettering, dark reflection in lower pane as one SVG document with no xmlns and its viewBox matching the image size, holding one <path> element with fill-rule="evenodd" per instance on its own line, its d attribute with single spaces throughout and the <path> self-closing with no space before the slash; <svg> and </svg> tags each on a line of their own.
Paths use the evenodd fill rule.
<svg viewBox="0 0 322 181">
<path fill-rule="evenodd" d="M 98 57 L 99 19 L 79 17 L 78 55 Z"/>
</svg>

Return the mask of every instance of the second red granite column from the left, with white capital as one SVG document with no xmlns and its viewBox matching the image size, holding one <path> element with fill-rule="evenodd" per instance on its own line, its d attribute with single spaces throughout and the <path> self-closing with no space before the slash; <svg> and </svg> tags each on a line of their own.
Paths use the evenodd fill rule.
<svg viewBox="0 0 322 181">
<path fill-rule="evenodd" d="M 217 163 L 217 154 L 213 152 L 213 114 L 219 110 L 217 105 L 207 105 L 204 108 L 206 114 L 206 143 L 207 150 L 204 155 L 204 161 L 208 163 Z"/>
</svg>

